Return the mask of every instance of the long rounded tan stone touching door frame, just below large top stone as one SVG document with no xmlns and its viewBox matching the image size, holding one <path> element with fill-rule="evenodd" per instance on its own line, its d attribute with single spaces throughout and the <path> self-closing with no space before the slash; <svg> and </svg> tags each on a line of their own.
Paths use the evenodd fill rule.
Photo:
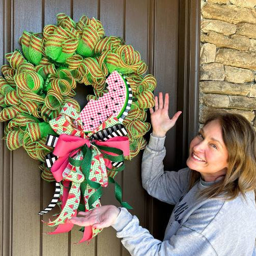
<svg viewBox="0 0 256 256">
<path fill-rule="evenodd" d="M 222 22 L 221 20 L 203 19 L 201 20 L 201 30 L 204 33 L 215 31 L 223 35 L 232 35 L 236 33 L 237 26 L 227 22 Z"/>
</svg>

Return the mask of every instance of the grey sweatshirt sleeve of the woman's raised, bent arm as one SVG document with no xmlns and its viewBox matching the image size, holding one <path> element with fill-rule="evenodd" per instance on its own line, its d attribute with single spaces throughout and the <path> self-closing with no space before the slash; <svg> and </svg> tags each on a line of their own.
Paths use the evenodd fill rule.
<svg viewBox="0 0 256 256">
<path fill-rule="evenodd" d="M 151 134 L 142 157 L 142 186 L 151 196 L 169 204 L 176 204 L 187 187 L 189 169 L 164 171 L 164 140 L 165 137 L 158 138 Z"/>
</svg>

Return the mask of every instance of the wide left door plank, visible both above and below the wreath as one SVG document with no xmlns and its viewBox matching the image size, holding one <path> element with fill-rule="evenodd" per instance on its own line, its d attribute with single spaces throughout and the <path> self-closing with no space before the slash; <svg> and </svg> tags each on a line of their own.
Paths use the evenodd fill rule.
<svg viewBox="0 0 256 256">
<path fill-rule="evenodd" d="M 21 17 L 36 17 L 23 19 Z M 13 2 L 13 45 L 19 48 L 18 39 L 23 30 L 41 30 L 41 2 Z M 13 255 L 39 255 L 40 223 L 40 172 L 38 161 L 31 159 L 23 148 L 13 152 Z M 25 228 L 26 227 L 26 228 Z M 24 241 L 29 246 L 24 246 Z"/>
</svg>

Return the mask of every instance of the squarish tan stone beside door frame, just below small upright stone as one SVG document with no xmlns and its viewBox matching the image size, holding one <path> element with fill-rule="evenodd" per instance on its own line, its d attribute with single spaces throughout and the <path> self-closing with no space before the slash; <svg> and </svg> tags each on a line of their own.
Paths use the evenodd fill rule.
<svg viewBox="0 0 256 256">
<path fill-rule="evenodd" d="M 224 66 L 221 63 L 209 63 L 201 66 L 200 80 L 223 81 Z"/>
</svg>

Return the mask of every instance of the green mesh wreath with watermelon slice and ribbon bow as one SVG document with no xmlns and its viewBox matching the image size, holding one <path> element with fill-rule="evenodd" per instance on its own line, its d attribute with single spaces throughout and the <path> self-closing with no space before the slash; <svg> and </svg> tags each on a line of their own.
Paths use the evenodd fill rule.
<svg viewBox="0 0 256 256">
<path fill-rule="evenodd" d="M 122 206 L 121 188 L 114 180 L 145 147 L 143 135 L 150 129 L 145 110 L 154 106 L 156 79 L 139 52 L 121 38 L 105 36 L 99 20 L 82 16 L 75 23 L 57 15 L 57 26 L 43 33 L 24 31 L 19 38 L 22 52 L 6 54 L 10 65 L 0 77 L 0 120 L 8 121 L 5 139 L 10 150 L 23 146 L 38 159 L 41 178 L 56 181 L 54 197 L 45 214 L 56 204 L 61 212 L 47 223 L 68 232 L 67 220 L 77 209 L 100 206 L 101 187 L 115 183 L 115 196 Z M 80 113 L 76 83 L 92 85 L 95 95 Z M 80 242 L 101 229 L 84 227 Z"/>
</svg>

